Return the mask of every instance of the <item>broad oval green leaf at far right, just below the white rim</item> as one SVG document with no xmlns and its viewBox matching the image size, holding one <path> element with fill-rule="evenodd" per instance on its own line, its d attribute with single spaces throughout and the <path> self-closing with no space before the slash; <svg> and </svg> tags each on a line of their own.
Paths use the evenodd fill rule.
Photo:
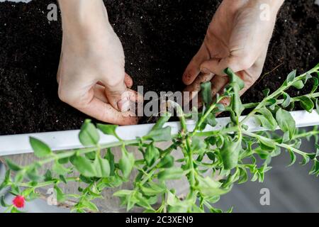
<svg viewBox="0 0 319 227">
<path fill-rule="evenodd" d="M 279 128 L 284 133 L 289 132 L 289 138 L 292 139 L 296 132 L 296 122 L 288 111 L 278 109 L 276 112 L 276 121 L 278 122 Z"/>
</svg>

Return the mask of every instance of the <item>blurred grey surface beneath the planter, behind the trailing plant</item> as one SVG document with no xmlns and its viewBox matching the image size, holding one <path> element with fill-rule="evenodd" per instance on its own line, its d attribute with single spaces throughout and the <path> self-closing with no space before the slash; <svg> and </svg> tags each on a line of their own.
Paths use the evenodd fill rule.
<svg viewBox="0 0 319 227">
<path fill-rule="evenodd" d="M 315 151 L 314 141 L 304 141 L 301 150 L 307 153 Z M 264 183 L 247 182 L 235 185 L 233 190 L 222 196 L 216 207 L 228 210 L 233 206 L 233 212 L 319 212 L 319 179 L 308 175 L 310 165 L 301 166 L 297 162 L 289 165 L 290 157 L 283 152 L 272 160 L 272 170 L 267 172 Z M 0 166 L 0 178 L 4 176 L 4 166 Z M 260 190 L 267 188 L 270 192 L 270 206 L 262 206 L 259 202 Z M 6 194 L 0 192 L 0 194 Z M 13 197 L 6 194 L 10 203 Z M 28 212 L 68 212 L 55 206 L 48 206 L 46 201 L 38 199 L 26 204 Z M 3 211 L 3 209 L 0 211 Z"/>
</svg>

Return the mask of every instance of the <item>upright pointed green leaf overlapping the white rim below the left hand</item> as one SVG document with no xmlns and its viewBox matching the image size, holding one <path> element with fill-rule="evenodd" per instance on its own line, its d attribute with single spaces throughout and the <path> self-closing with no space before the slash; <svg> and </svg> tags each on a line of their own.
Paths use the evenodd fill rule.
<svg viewBox="0 0 319 227">
<path fill-rule="evenodd" d="M 97 145 L 100 140 L 100 135 L 91 120 L 85 120 L 79 133 L 79 140 L 84 146 Z"/>
</svg>

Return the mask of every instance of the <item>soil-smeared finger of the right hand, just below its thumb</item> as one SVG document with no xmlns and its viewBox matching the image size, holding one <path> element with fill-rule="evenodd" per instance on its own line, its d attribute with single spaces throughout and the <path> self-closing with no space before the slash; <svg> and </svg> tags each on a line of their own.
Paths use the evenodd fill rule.
<svg viewBox="0 0 319 227">
<path fill-rule="evenodd" d="M 201 84 L 211 81 L 213 76 L 214 74 L 211 73 L 199 74 L 198 77 L 196 77 L 196 79 L 194 80 L 194 82 L 184 89 L 184 103 L 187 104 L 192 99 L 194 99 L 194 97 L 196 97 L 198 92 L 201 90 Z M 187 94 L 186 92 L 188 92 L 189 94 Z"/>
</svg>

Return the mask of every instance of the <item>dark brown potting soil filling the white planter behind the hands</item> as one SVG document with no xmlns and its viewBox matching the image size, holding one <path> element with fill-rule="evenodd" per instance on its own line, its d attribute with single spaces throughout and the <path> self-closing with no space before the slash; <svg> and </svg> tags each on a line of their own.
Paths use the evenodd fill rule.
<svg viewBox="0 0 319 227">
<path fill-rule="evenodd" d="M 135 88 L 184 89 L 181 74 L 201 45 L 220 1 L 105 1 Z M 286 0 L 264 76 L 243 96 L 244 102 L 260 101 L 262 90 L 278 88 L 291 70 L 304 72 L 319 62 L 319 6 L 313 2 Z M 47 20 L 50 3 L 56 4 L 52 0 L 0 4 L 0 135 L 76 129 L 87 118 L 57 96 L 62 31 L 60 18 Z M 309 89 L 310 85 L 304 91 Z"/>
</svg>

